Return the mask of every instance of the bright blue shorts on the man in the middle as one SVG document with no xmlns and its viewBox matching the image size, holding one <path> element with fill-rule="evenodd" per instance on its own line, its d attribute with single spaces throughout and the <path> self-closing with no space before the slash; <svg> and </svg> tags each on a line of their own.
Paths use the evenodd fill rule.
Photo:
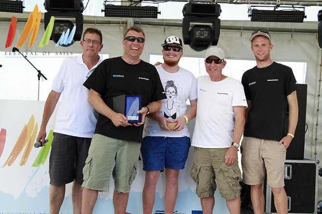
<svg viewBox="0 0 322 214">
<path fill-rule="evenodd" d="M 189 148 L 188 137 L 144 137 L 141 145 L 143 170 L 183 169 Z"/>
</svg>

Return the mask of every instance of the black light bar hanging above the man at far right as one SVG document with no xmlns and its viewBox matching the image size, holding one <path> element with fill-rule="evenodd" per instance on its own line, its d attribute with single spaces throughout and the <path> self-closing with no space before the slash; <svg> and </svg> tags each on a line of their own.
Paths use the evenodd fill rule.
<svg viewBox="0 0 322 214">
<path fill-rule="evenodd" d="M 252 7 L 254 8 L 254 7 L 260 7 L 260 6 L 250 7 L 248 17 L 250 17 L 251 21 L 303 22 L 303 19 L 306 18 L 304 7 L 280 6 L 279 7 L 280 10 L 277 10 L 276 7 L 274 7 L 273 10 L 258 10 L 258 9 L 252 9 Z"/>
</svg>

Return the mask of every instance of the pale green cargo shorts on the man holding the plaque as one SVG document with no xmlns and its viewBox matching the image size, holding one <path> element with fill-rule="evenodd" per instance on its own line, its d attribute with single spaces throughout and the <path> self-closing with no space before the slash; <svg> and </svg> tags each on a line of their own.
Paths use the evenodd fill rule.
<svg viewBox="0 0 322 214">
<path fill-rule="evenodd" d="M 115 189 L 122 193 L 131 190 L 137 174 L 141 143 L 122 141 L 94 134 L 83 168 L 82 187 L 109 191 L 111 174 Z"/>
</svg>

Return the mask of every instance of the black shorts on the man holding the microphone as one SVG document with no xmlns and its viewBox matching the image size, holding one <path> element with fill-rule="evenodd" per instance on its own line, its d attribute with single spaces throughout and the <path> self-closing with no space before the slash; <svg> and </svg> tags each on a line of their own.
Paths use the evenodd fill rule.
<svg viewBox="0 0 322 214">
<path fill-rule="evenodd" d="M 88 156 L 91 138 L 54 133 L 49 158 L 49 178 L 52 185 L 63 185 L 74 179 L 81 185 L 83 167 Z"/>
</svg>

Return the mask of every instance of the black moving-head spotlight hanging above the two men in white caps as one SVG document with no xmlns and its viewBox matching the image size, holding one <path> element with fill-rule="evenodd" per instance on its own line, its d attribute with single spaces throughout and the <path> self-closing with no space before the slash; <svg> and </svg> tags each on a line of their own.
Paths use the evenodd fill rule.
<svg viewBox="0 0 322 214">
<path fill-rule="evenodd" d="M 194 51 L 203 51 L 211 45 L 217 45 L 220 35 L 221 14 L 219 4 L 187 3 L 182 9 L 183 43 Z M 190 29 L 190 23 L 209 23 L 211 25 L 195 24 Z"/>
</svg>

